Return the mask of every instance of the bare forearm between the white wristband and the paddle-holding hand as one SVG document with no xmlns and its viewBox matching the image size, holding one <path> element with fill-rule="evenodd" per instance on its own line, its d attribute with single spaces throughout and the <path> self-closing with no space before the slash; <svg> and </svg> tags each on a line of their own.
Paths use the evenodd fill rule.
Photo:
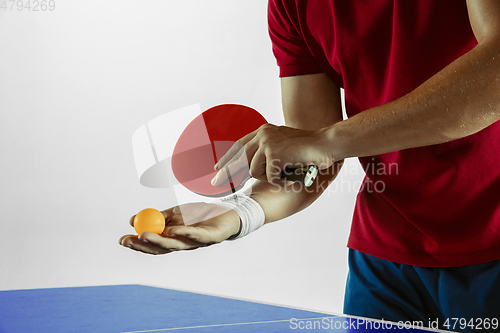
<svg viewBox="0 0 500 333">
<path fill-rule="evenodd" d="M 322 170 L 310 187 L 300 183 L 288 183 L 286 186 L 273 185 L 257 181 L 252 186 L 251 198 L 257 201 L 266 216 L 266 223 L 282 220 L 300 212 L 311 205 L 335 179 L 342 167 L 338 161 L 327 170 Z"/>
</svg>

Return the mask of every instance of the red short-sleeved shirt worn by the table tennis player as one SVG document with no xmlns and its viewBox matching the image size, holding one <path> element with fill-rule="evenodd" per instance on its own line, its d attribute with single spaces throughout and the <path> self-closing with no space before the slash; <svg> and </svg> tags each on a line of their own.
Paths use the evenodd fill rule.
<svg viewBox="0 0 500 333">
<path fill-rule="evenodd" d="M 345 89 L 348 116 L 407 94 L 477 44 L 465 0 L 270 0 L 269 31 L 280 76 L 326 73 Z M 360 162 L 370 186 L 350 248 L 416 266 L 500 259 L 500 123 Z"/>
</svg>

